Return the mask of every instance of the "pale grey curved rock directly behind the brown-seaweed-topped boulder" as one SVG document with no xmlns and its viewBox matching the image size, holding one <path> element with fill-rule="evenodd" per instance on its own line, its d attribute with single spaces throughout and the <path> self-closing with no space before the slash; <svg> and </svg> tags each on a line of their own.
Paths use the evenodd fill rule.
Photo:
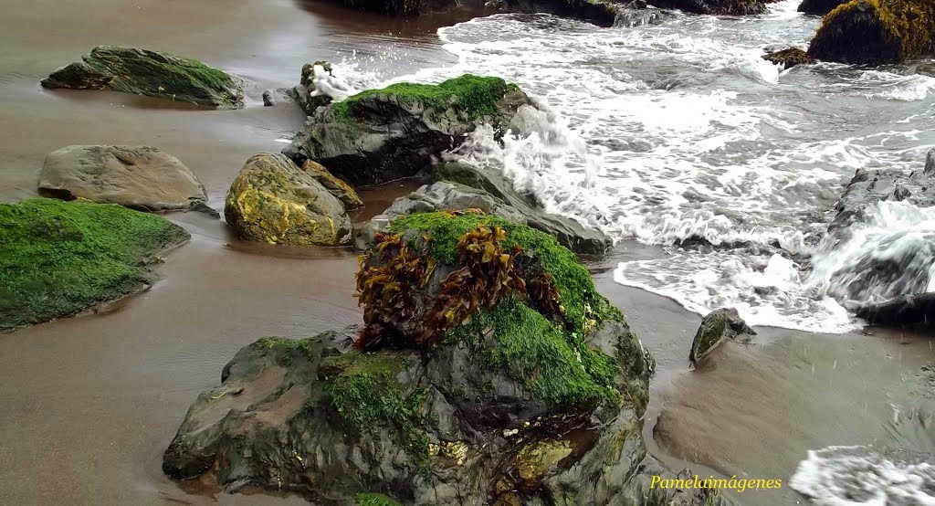
<svg viewBox="0 0 935 506">
<path fill-rule="evenodd" d="M 356 231 L 354 247 L 367 250 L 373 246 L 377 234 L 389 228 L 390 221 L 398 216 L 435 210 L 482 210 L 514 223 L 526 223 L 522 212 L 482 190 L 457 182 L 439 181 L 425 184 L 410 195 L 394 200 L 389 208 L 371 218 L 369 223 Z"/>
</svg>

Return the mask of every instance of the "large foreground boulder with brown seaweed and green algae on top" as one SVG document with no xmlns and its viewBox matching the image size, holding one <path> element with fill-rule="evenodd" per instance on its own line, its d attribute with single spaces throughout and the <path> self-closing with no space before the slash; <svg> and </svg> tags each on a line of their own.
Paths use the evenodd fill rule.
<svg viewBox="0 0 935 506">
<path fill-rule="evenodd" d="M 672 476 L 641 436 L 654 361 L 554 238 L 411 214 L 357 288 L 363 327 L 241 350 L 165 472 L 324 505 L 721 503 L 649 486 Z"/>
</svg>

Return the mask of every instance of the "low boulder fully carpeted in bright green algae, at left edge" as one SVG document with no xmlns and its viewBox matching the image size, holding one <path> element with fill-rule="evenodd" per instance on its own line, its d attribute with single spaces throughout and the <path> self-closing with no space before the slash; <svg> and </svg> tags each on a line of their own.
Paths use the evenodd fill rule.
<svg viewBox="0 0 935 506">
<path fill-rule="evenodd" d="M 156 255 L 188 239 L 176 224 L 116 205 L 0 204 L 0 330 L 135 293 L 154 281 Z"/>
</svg>

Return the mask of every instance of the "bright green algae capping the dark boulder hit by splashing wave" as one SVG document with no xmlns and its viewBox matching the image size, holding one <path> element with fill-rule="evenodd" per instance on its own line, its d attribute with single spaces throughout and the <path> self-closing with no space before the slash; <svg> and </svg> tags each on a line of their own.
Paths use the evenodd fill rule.
<svg viewBox="0 0 935 506">
<path fill-rule="evenodd" d="M 468 119 L 496 116 L 496 107 L 504 94 L 518 90 L 515 84 L 508 84 L 500 78 L 480 77 L 465 74 L 460 78 L 446 80 L 439 84 L 417 84 L 397 82 L 379 90 L 367 90 L 355 94 L 332 106 L 336 119 L 352 123 L 352 116 L 361 102 L 374 95 L 395 95 L 402 104 L 422 104 L 425 109 L 441 112 L 448 108 L 463 113 Z"/>
</svg>

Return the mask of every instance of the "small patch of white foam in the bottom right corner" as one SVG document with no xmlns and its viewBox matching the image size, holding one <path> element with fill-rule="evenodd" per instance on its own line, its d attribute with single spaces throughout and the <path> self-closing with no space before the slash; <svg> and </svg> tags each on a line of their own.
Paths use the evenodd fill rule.
<svg viewBox="0 0 935 506">
<path fill-rule="evenodd" d="M 810 450 L 789 486 L 819 506 L 933 506 L 935 466 L 899 462 L 865 446 Z"/>
</svg>

